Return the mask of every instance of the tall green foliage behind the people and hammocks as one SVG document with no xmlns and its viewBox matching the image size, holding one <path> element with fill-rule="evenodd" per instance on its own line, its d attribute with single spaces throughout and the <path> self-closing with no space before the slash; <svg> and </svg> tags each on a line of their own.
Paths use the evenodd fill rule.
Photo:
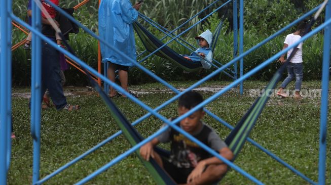
<svg viewBox="0 0 331 185">
<path fill-rule="evenodd" d="M 62 0 L 60 1 L 60 6 L 65 8 L 73 7 L 79 2 L 82 1 Z M 158 22 L 160 25 L 163 25 L 167 29 L 172 30 L 212 2 L 212 0 L 149 0 L 144 2 L 140 12 L 152 18 L 154 21 Z M 218 6 L 222 5 L 226 1 L 223 0 L 219 2 L 220 3 L 217 4 Z M 310 9 L 316 7 L 319 3 L 321 2 L 317 0 L 244 1 L 244 51 L 248 50 L 253 45 L 259 43 L 272 33 L 297 19 L 303 15 L 304 12 L 307 12 Z M 26 4 L 26 0 L 13 0 L 14 14 L 21 17 L 22 19 L 25 19 Z M 206 10 L 204 14 L 196 17 L 188 25 L 179 29 L 175 33 L 178 34 L 187 29 L 189 26 L 199 21 L 202 17 L 210 13 L 215 8 L 216 6 L 213 6 Z M 207 28 L 213 31 L 219 22 L 219 18 L 225 14 L 226 9 L 228 9 L 228 13 L 225 15 L 226 21 L 222 29 L 222 35 L 217 42 L 218 44 L 214 52 L 214 58 L 222 64 L 226 64 L 231 59 L 233 59 L 232 5 L 221 9 L 217 14 L 214 14 L 207 21 L 204 21 L 202 24 L 199 24 L 182 36 L 182 38 L 197 47 L 196 41 L 193 39 L 193 37 Z M 85 6 L 78 9 L 74 16 L 83 25 L 97 33 L 97 10 L 98 1 L 90 1 Z M 318 24 L 323 22 L 323 17 L 324 15 L 320 16 Z M 139 20 L 139 22 L 142 22 L 142 20 Z M 164 36 L 164 34 L 159 32 L 156 28 L 153 28 L 147 24 L 144 25 L 157 37 L 161 38 Z M 250 55 L 245 57 L 244 72 L 251 70 L 266 59 L 270 58 L 275 53 L 279 52 L 282 49 L 283 40 L 286 34 L 291 33 L 293 30 L 294 28 L 286 31 L 282 35 L 270 41 L 268 44 L 264 45 L 262 48 L 252 52 Z M 24 38 L 24 33 L 18 31 L 16 28 L 13 28 L 13 44 Z M 313 36 L 304 43 L 304 80 L 320 79 L 322 43 L 322 33 Z M 71 35 L 70 44 L 83 61 L 97 69 L 97 40 L 95 38 L 81 30 L 79 34 Z M 170 47 L 178 53 L 190 53 L 190 51 L 184 47 L 181 47 L 180 44 L 177 43 L 171 43 Z M 136 38 L 136 49 L 137 54 L 144 51 L 144 47 L 138 37 Z M 25 51 L 22 48 L 19 48 L 13 52 L 13 82 L 15 85 L 30 84 L 30 62 L 29 51 Z M 201 79 L 203 76 L 215 70 L 215 68 L 211 68 L 210 70 L 200 70 L 198 72 L 185 74 L 183 73 L 182 69 L 157 56 L 150 57 L 142 64 L 165 80 L 196 80 Z M 275 61 L 267 68 L 253 75 L 251 79 L 268 80 L 278 67 L 279 64 Z M 85 76 L 73 67 L 65 71 L 65 75 L 67 78 L 67 85 L 87 84 Z M 129 72 L 129 75 L 129 83 L 131 84 L 140 84 L 154 81 L 154 79 L 137 68 L 132 68 Z M 221 73 L 213 78 L 213 80 L 219 79 L 231 80 L 224 73 Z"/>
</svg>

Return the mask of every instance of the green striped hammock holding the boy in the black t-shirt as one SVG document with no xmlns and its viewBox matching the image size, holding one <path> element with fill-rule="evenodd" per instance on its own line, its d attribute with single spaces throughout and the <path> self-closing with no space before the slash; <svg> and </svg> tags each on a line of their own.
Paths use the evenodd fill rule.
<svg viewBox="0 0 331 185">
<path fill-rule="evenodd" d="M 279 81 L 281 74 L 287 66 L 286 62 L 278 69 L 275 73 L 269 84 L 267 85 L 265 92 L 271 92 Z M 88 74 L 88 73 L 87 73 Z M 116 123 L 119 125 L 121 130 L 123 131 L 124 136 L 127 138 L 129 143 L 132 146 L 135 146 L 137 143 L 141 142 L 143 138 L 140 134 L 135 130 L 135 128 L 130 124 L 130 122 L 126 119 L 126 117 L 121 113 L 121 111 L 117 108 L 117 106 L 107 97 L 105 92 L 101 89 L 101 87 L 94 81 L 90 80 L 94 85 L 95 89 L 100 94 L 104 103 L 107 105 L 108 109 L 111 111 L 112 116 L 115 118 Z M 265 104 L 269 99 L 269 95 L 263 94 L 259 97 L 255 103 L 250 107 L 247 113 L 242 117 L 242 119 L 237 123 L 236 127 L 231 131 L 229 136 L 226 138 L 225 142 L 234 153 L 234 159 L 239 154 L 241 148 L 246 141 L 251 129 L 256 123 L 259 115 L 261 114 Z M 162 149 L 156 149 L 156 151 L 160 155 L 166 155 L 167 152 L 162 151 Z M 140 158 L 141 162 L 145 165 L 148 171 L 151 173 L 157 184 L 175 184 L 172 178 L 153 160 L 145 161 L 141 158 L 139 151 L 136 151 L 136 154 Z M 233 159 L 233 161 L 234 161 Z"/>
</svg>

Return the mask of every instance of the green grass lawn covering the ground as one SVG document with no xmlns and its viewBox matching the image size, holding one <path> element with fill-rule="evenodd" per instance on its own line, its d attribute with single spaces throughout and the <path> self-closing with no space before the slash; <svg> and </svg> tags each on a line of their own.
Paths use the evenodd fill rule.
<svg viewBox="0 0 331 185">
<path fill-rule="evenodd" d="M 177 88 L 185 88 L 194 82 L 172 82 Z M 202 86 L 224 86 L 230 82 L 207 82 Z M 252 105 L 256 96 L 249 89 L 263 89 L 267 82 L 247 81 L 244 83 L 244 96 L 237 89 L 227 92 L 206 108 L 226 122 L 235 125 Z M 288 85 L 293 90 L 294 84 Z M 303 89 L 320 89 L 319 81 L 303 82 Z M 75 94 L 77 88 L 67 87 Z M 151 89 L 166 89 L 159 83 L 131 86 L 131 90 L 149 91 Z M 29 92 L 28 88 L 13 88 L 13 92 Z M 204 98 L 212 95 L 203 92 Z M 156 108 L 174 94 L 155 92 L 141 95 L 139 100 L 146 105 Z M 42 111 L 41 126 L 41 177 L 58 169 L 70 160 L 83 154 L 107 137 L 116 133 L 119 127 L 111 117 L 102 100 L 95 94 L 69 96 L 68 103 L 78 104 L 81 110 L 67 112 L 50 108 Z M 133 122 L 147 112 L 141 107 L 124 98 L 115 98 L 114 102 L 127 118 Z M 30 135 L 30 111 L 28 99 L 13 97 L 13 127 L 16 138 L 12 143 L 12 160 L 8 174 L 8 184 L 31 184 L 32 178 L 32 138 Z M 177 115 L 177 102 L 170 104 L 160 111 L 165 117 Z M 250 138 L 262 145 L 289 165 L 298 169 L 314 181 L 318 179 L 319 154 L 319 117 L 320 97 L 304 98 L 301 101 L 292 98 L 281 99 L 271 97 L 253 128 Z M 330 118 L 330 116 L 328 117 Z M 209 116 L 203 121 L 211 125 L 221 138 L 225 138 L 230 130 Z M 161 126 L 162 122 L 150 117 L 136 126 L 143 136 L 149 136 Z M 328 125 L 330 141 L 331 125 Z M 163 147 L 168 148 L 168 145 Z M 130 148 L 121 135 L 115 140 L 70 166 L 63 172 L 51 178 L 46 184 L 73 184 L 94 172 L 116 156 Z M 326 183 L 331 183 L 331 147 L 327 149 Z M 249 143 L 246 143 L 238 155 L 235 164 L 258 178 L 265 184 L 308 184 L 301 177 L 273 160 Z M 252 184 L 243 175 L 230 170 L 222 184 Z M 135 154 L 130 155 L 96 178 L 89 184 L 155 184 L 153 178 L 145 170 Z"/>
</svg>

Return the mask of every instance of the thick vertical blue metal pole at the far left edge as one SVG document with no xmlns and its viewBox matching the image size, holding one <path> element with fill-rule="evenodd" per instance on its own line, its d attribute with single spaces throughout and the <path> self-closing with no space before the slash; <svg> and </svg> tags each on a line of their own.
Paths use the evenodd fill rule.
<svg viewBox="0 0 331 185">
<path fill-rule="evenodd" d="M 11 64 L 11 23 L 9 12 L 11 12 L 11 1 L 0 2 L 0 184 L 7 184 L 8 173 L 8 144 L 10 135 L 8 135 L 8 129 L 10 129 L 10 116 L 11 112 L 8 110 L 10 106 L 10 98 L 8 97 L 8 83 L 11 79 L 8 78 L 8 65 Z M 8 23 L 9 22 L 9 23 Z"/>
</svg>

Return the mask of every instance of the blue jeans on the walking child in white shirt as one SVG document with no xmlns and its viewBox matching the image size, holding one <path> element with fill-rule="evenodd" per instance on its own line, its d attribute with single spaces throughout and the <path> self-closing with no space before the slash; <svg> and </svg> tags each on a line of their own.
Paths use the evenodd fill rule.
<svg viewBox="0 0 331 185">
<path fill-rule="evenodd" d="M 285 88 L 287 84 L 296 79 L 296 91 L 300 91 L 301 89 L 301 83 L 302 83 L 302 71 L 303 71 L 303 63 L 289 63 L 287 65 L 287 77 L 283 81 L 283 83 L 280 85 L 280 87 Z"/>
</svg>

